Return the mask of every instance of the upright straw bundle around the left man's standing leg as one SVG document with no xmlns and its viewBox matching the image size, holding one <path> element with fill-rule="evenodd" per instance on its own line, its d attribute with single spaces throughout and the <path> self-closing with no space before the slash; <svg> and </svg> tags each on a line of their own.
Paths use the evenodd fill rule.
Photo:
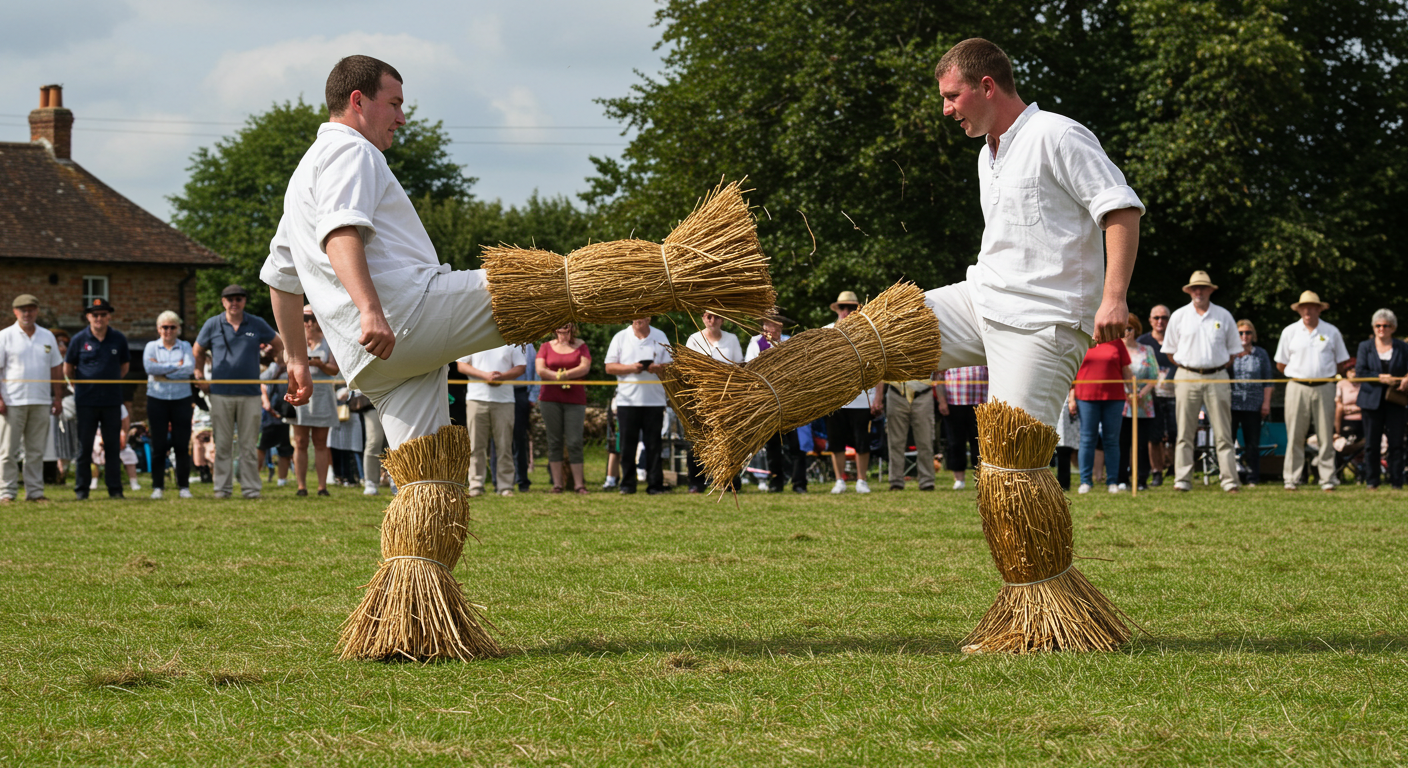
<svg viewBox="0 0 1408 768">
<path fill-rule="evenodd" d="M 382 566 L 342 624 L 342 658 L 432 661 L 500 655 L 487 619 L 451 575 L 469 534 L 469 433 L 441 427 L 386 452 L 398 488 L 382 523 Z M 428 482 L 434 481 L 434 482 Z"/>
</svg>

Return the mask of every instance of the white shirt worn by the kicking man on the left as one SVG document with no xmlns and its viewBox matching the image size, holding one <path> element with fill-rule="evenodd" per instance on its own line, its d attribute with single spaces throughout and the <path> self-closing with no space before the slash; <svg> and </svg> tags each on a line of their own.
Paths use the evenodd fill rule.
<svg viewBox="0 0 1408 768">
<path fill-rule="evenodd" d="M 356 227 L 386 323 L 404 337 L 441 264 L 411 199 L 386 155 L 341 123 L 324 123 L 298 161 L 283 199 L 283 218 L 269 244 L 259 279 L 313 304 L 332 357 L 349 379 L 375 359 L 358 344 L 362 313 L 332 271 L 327 238 Z M 396 352 L 391 361 L 396 362 Z"/>
</svg>

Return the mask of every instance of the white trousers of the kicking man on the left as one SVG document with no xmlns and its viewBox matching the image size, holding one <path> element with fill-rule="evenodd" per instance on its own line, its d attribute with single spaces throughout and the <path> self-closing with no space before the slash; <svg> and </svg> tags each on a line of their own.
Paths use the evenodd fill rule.
<svg viewBox="0 0 1408 768">
<path fill-rule="evenodd" d="M 360 334 L 352 333 L 352 338 Z M 396 340 L 390 359 L 373 359 L 355 376 L 386 430 L 386 447 L 435 434 L 449 424 L 446 365 L 473 352 L 503 347 L 489 303 L 483 269 L 436 275 L 421 310 Z"/>
</svg>

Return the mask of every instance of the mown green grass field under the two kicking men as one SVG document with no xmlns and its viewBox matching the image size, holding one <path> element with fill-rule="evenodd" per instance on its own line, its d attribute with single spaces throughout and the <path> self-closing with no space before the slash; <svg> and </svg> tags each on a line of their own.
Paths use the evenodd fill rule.
<svg viewBox="0 0 1408 768">
<path fill-rule="evenodd" d="M 1017 658 L 959 652 L 998 588 L 973 490 L 545 488 L 477 500 L 456 569 L 508 655 L 428 667 L 334 650 L 386 496 L 0 507 L 0 762 L 1408 761 L 1401 493 L 1074 496 L 1149 636 Z"/>
</svg>

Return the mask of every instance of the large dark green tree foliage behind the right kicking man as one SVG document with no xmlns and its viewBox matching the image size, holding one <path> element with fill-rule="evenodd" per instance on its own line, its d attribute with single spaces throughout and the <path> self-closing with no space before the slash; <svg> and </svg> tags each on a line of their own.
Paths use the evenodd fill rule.
<svg viewBox="0 0 1408 768">
<path fill-rule="evenodd" d="M 656 20 L 663 72 L 604 100 L 636 137 L 594 158 L 584 199 L 653 234 L 748 175 L 780 302 L 808 324 L 838 290 L 974 262 L 981 145 L 934 82 L 967 37 L 1002 45 L 1024 99 L 1088 125 L 1149 206 L 1136 311 L 1183 303 L 1193 269 L 1269 330 L 1302 289 L 1343 327 L 1408 297 L 1402 0 L 666 0 Z"/>
</svg>

